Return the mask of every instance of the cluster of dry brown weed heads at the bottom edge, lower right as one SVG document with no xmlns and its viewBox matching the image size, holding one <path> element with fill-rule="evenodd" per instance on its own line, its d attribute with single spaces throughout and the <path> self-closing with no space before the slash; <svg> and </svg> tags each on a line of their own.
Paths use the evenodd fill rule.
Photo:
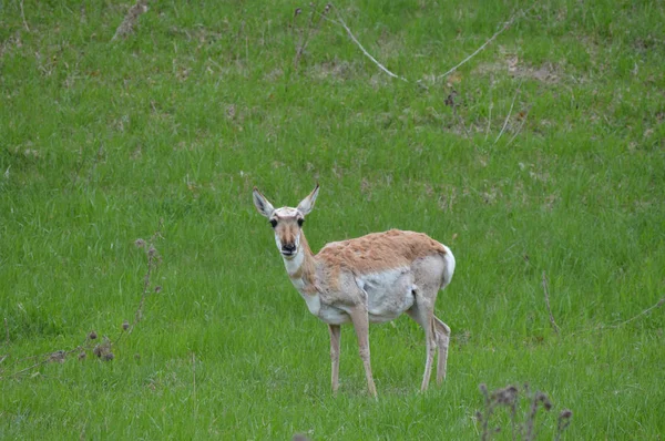
<svg viewBox="0 0 665 441">
<path fill-rule="evenodd" d="M 520 396 L 520 389 L 515 386 L 507 386 L 502 389 L 497 389 L 492 392 L 488 390 L 485 384 L 480 384 L 480 391 L 484 397 L 484 411 L 475 412 L 475 419 L 482 427 L 480 439 L 488 441 L 492 439 L 494 433 L 501 431 L 501 427 L 491 427 L 490 420 L 498 408 L 508 408 L 510 412 L 512 439 L 518 438 L 532 441 L 535 439 L 535 420 L 539 409 L 550 411 L 552 409 L 552 402 L 548 396 L 543 392 L 536 391 L 531 393 L 529 391 L 529 384 L 524 384 L 522 388 L 522 396 Z M 529 411 L 524 416 L 524 421 L 518 421 L 518 410 L 520 408 L 520 399 L 529 401 Z M 561 439 L 563 431 L 570 425 L 573 412 L 565 409 L 559 414 L 556 424 L 555 440 Z"/>
</svg>

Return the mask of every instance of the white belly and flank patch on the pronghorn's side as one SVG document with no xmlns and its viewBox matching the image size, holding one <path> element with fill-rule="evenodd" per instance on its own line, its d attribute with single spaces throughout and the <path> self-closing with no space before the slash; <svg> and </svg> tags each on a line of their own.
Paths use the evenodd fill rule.
<svg viewBox="0 0 665 441">
<path fill-rule="evenodd" d="M 357 278 L 367 293 L 369 320 L 393 320 L 413 306 L 413 274 L 409 268 L 390 269 Z"/>
</svg>

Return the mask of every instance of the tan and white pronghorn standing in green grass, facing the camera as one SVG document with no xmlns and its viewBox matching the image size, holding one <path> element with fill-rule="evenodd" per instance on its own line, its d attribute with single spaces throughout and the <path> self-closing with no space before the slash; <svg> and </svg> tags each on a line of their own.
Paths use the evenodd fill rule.
<svg viewBox="0 0 665 441">
<path fill-rule="evenodd" d="M 309 311 L 328 324 L 332 392 L 339 386 L 340 325 L 351 322 L 358 338 L 369 393 L 377 396 L 369 361 L 369 324 L 402 312 L 424 329 L 427 358 L 421 391 L 429 384 L 437 347 L 437 381 L 446 378 L 450 328 L 434 317 L 434 302 L 454 271 L 450 249 L 422 233 L 391 229 L 327 244 L 311 253 L 303 223 L 314 208 L 318 184 L 296 208 L 274 208 L 254 187 L 254 205 L 275 232 L 286 271 Z"/>
</svg>

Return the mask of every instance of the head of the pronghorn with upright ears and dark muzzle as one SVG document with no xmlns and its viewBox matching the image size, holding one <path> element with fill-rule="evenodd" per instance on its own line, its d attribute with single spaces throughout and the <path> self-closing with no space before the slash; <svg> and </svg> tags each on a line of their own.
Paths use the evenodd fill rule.
<svg viewBox="0 0 665 441">
<path fill-rule="evenodd" d="M 304 198 L 296 208 L 274 208 L 273 204 L 260 192 L 254 187 L 254 206 L 258 213 L 267 217 L 275 230 L 275 243 L 277 249 L 286 259 L 293 259 L 300 250 L 300 233 L 303 223 L 314 208 L 318 195 L 318 184 L 314 191 Z"/>
</svg>

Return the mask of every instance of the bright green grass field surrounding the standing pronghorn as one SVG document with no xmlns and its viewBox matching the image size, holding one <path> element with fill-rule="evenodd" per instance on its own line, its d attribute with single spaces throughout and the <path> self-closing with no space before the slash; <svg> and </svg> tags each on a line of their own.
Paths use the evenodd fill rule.
<svg viewBox="0 0 665 441">
<path fill-rule="evenodd" d="M 112 41 L 130 2 L 0 0 L 0 438 L 478 439 L 479 384 L 528 382 L 542 439 L 564 408 L 563 439 L 663 439 L 664 308 L 641 315 L 665 296 L 663 2 L 335 3 L 407 81 L 338 22 L 308 31 L 307 2 L 229 3 L 155 1 Z M 315 250 L 388 228 L 452 248 L 441 387 L 418 392 L 400 318 L 370 330 L 379 400 L 350 328 L 331 394 L 250 196 L 317 181 Z M 156 230 L 114 359 L 42 362 L 133 321 Z"/>
</svg>

